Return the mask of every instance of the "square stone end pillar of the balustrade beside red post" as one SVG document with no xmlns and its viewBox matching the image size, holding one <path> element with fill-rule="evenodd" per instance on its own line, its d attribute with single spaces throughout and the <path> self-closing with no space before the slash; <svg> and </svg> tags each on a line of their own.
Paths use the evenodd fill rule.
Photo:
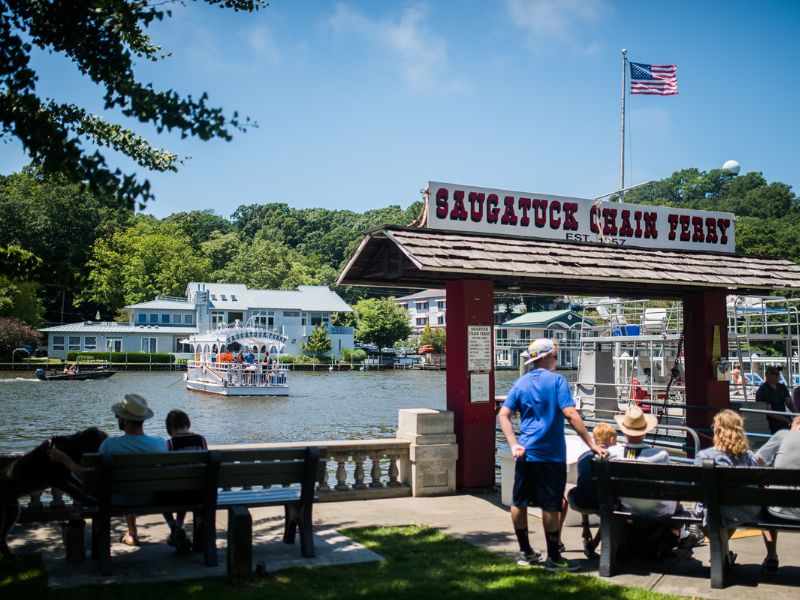
<svg viewBox="0 0 800 600">
<path fill-rule="evenodd" d="M 452 411 L 402 408 L 397 420 L 397 438 L 411 442 L 401 481 L 411 485 L 414 497 L 455 494 L 458 444 Z"/>
</svg>

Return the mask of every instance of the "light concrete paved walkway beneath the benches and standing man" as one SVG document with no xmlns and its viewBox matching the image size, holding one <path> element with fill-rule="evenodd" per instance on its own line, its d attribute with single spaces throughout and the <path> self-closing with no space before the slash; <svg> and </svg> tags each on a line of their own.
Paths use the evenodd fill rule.
<svg viewBox="0 0 800 600">
<path fill-rule="evenodd" d="M 282 509 L 258 509 L 254 519 L 254 561 L 265 570 L 278 570 L 290 566 L 325 566 L 380 560 L 380 557 L 337 533 L 346 527 L 379 525 L 424 524 L 477 544 L 492 552 L 513 555 L 516 552 L 508 509 L 500 505 L 499 493 L 463 494 L 440 498 L 399 498 L 358 502 L 330 502 L 315 506 L 315 538 L 317 557 L 304 559 L 299 545 L 279 543 L 282 533 Z M 201 555 L 177 556 L 164 544 L 167 528 L 157 518 L 142 520 L 139 548 L 113 544 L 114 575 L 111 581 L 134 582 L 158 579 L 183 579 L 207 577 L 224 573 L 226 515 L 218 513 L 220 565 L 209 569 L 202 564 Z M 531 541 L 534 546 L 544 545 L 541 524 L 537 518 L 530 520 Z M 97 575 L 92 561 L 80 565 L 67 565 L 63 560 L 60 534 L 55 528 L 39 527 L 14 531 L 14 546 L 20 552 L 42 550 L 45 568 L 51 585 L 55 587 L 86 585 L 105 581 Z M 581 561 L 582 573 L 597 575 L 597 560 L 586 560 L 581 551 L 579 527 L 564 531 L 566 556 Z M 671 560 L 655 562 L 631 561 L 624 563 L 625 574 L 609 581 L 621 585 L 641 587 L 659 592 L 685 596 L 725 598 L 725 600 L 770 598 L 771 600 L 800 597 L 800 536 L 781 534 L 778 549 L 783 558 L 778 577 L 765 575 L 761 570 L 764 546 L 758 535 L 743 533 L 731 548 L 738 553 L 737 565 L 731 576 L 731 585 L 725 590 L 712 591 L 709 587 L 708 546 L 692 551 L 681 551 Z"/>
</svg>

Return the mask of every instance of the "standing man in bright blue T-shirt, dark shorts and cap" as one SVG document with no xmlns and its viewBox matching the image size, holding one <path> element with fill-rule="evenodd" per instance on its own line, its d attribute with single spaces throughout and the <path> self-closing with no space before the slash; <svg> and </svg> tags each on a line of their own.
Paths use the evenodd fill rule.
<svg viewBox="0 0 800 600">
<path fill-rule="evenodd" d="M 558 342 L 546 338 L 534 340 L 528 346 L 528 356 L 525 364 L 533 364 L 533 369 L 514 383 L 497 415 L 511 454 L 517 459 L 511 501 L 511 521 L 520 549 L 517 564 L 533 564 L 541 559 L 528 540 L 528 506 L 538 506 L 542 509 L 547 541 L 545 568 L 575 571 L 580 566 L 563 558 L 559 551 L 559 517 L 567 484 L 564 419 L 592 452 L 600 455 L 607 452 L 586 431 L 566 378 L 555 372 Z M 511 423 L 514 413 L 520 415 L 519 440 Z"/>
</svg>

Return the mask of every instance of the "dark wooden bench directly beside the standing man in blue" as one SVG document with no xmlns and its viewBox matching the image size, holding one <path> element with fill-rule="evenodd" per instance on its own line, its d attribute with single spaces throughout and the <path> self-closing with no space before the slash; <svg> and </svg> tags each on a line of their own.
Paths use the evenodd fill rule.
<svg viewBox="0 0 800 600">
<path fill-rule="evenodd" d="M 625 544 L 625 525 L 631 521 L 661 521 L 674 527 L 700 523 L 688 513 L 672 516 L 632 515 L 619 505 L 619 498 L 677 500 L 686 503 L 705 501 L 704 477 L 694 465 L 666 465 L 596 458 L 597 491 L 600 503 L 600 575 L 617 572 L 618 554 Z"/>
</svg>

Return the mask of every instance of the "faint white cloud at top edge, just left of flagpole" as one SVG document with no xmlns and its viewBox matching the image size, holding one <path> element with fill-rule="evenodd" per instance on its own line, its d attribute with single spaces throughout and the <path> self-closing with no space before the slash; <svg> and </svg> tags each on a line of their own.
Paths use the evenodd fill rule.
<svg viewBox="0 0 800 600">
<path fill-rule="evenodd" d="M 594 54 L 600 44 L 587 30 L 609 10 L 604 0 L 506 0 L 511 21 L 528 32 L 531 46 L 543 54 L 568 48 L 575 54 Z"/>
</svg>

